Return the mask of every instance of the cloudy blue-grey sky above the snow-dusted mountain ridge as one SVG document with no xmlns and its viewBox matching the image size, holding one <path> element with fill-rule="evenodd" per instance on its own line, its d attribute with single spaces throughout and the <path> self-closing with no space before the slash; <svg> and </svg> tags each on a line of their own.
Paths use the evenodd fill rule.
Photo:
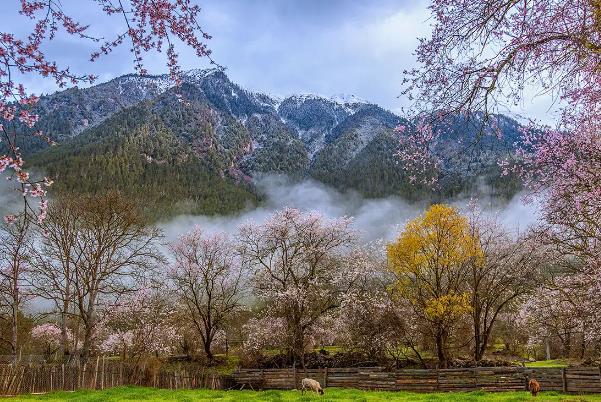
<svg viewBox="0 0 601 402">
<path fill-rule="evenodd" d="M 194 1 L 194 0 L 193 0 Z M 201 23 L 213 36 L 215 61 L 241 86 L 287 96 L 316 93 L 356 95 L 399 112 L 402 71 L 414 65 L 417 38 L 429 32 L 427 0 L 197 0 Z M 90 24 L 90 33 L 110 37 L 123 29 L 118 19 L 98 16 L 91 1 L 61 0 L 67 13 Z M 16 13 L 18 2 L 0 2 L 0 31 L 29 33 Z M 14 16 L 14 18 L 12 17 Z M 126 47 L 90 64 L 90 43 L 59 37 L 48 47 L 62 65 L 94 73 L 99 81 L 133 71 Z M 180 47 L 184 69 L 206 68 L 205 60 Z M 147 57 L 151 73 L 166 72 L 163 56 Z M 51 81 L 27 78 L 36 92 L 52 92 Z M 513 112 L 550 122 L 546 99 L 527 101 Z"/>
</svg>

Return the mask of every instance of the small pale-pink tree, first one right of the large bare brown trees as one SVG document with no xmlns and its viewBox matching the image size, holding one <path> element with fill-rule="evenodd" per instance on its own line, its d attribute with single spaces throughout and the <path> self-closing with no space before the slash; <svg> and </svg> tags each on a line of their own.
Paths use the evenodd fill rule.
<svg viewBox="0 0 601 402">
<path fill-rule="evenodd" d="M 224 235 L 208 236 L 196 228 L 170 249 L 175 259 L 170 274 L 175 294 L 212 361 L 216 335 L 241 307 L 242 269 L 235 248 Z"/>
</svg>

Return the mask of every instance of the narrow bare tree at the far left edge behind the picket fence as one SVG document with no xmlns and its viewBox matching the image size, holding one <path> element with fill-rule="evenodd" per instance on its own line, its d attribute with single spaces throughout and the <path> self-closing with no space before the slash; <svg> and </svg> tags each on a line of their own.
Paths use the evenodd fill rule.
<svg viewBox="0 0 601 402">
<path fill-rule="evenodd" d="M 29 220 L 21 217 L 7 224 L 0 232 L 0 319 L 7 321 L 13 358 L 19 351 L 19 314 L 27 300 L 25 274 L 30 266 L 31 243 Z"/>
</svg>

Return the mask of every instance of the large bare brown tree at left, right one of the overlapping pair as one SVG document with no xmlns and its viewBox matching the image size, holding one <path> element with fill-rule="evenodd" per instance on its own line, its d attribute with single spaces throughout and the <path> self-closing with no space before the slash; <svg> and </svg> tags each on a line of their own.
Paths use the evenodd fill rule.
<svg viewBox="0 0 601 402">
<path fill-rule="evenodd" d="M 84 196 L 73 212 L 80 215 L 75 303 L 83 324 L 81 357 L 85 361 L 98 305 L 134 290 L 136 279 L 154 268 L 160 258 L 155 246 L 160 234 L 146 224 L 137 205 L 119 193 Z"/>
</svg>

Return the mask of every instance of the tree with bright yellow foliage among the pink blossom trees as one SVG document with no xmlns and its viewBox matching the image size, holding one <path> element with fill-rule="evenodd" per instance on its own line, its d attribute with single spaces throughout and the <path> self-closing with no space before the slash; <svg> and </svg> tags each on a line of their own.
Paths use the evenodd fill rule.
<svg viewBox="0 0 601 402">
<path fill-rule="evenodd" d="M 394 291 L 422 319 L 426 335 L 436 344 L 440 368 L 448 366 L 453 329 L 470 311 L 469 267 L 484 261 L 471 233 L 467 218 L 437 204 L 410 221 L 387 246 L 389 268 L 396 276 Z"/>
</svg>

